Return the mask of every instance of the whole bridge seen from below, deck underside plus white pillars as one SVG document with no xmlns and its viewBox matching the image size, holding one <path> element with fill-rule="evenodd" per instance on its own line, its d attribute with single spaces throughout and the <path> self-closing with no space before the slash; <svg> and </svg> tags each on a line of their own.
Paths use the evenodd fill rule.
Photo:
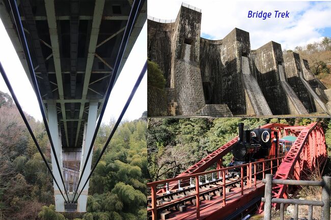
<svg viewBox="0 0 331 220">
<path fill-rule="evenodd" d="M 96 120 L 127 25 L 133 0 L 27 0 L 17 1 L 25 39 L 29 47 L 43 108 L 61 171 L 53 166 L 60 181 L 64 176 L 69 199 L 78 178 L 84 183 L 90 173 Z M 18 36 L 8 0 L 0 0 L 0 17 L 32 83 L 27 54 Z M 147 19 L 147 1 L 142 1 L 116 75 L 118 78 Z M 87 161 L 86 172 L 81 173 Z M 56 210 L 65 211 L 65 200 L 54 184 Z M 89 184 L 78 188 L 77 209 L 86 211 Z M 67 198 L 66 198 L 67 199 Z"/>
</svg>

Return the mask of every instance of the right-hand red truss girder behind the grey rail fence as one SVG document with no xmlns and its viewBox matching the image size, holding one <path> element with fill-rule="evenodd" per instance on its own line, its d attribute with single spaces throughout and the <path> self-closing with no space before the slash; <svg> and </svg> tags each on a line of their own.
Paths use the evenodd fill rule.
<svg viewBox="0 0 331 220">
<path fill-rule="evenodd" d="M 326 144 L 323 129 L 317 122 L 302 129 L 284 161 L 278 168 L 274 179 L 300 179 L 302 170 L 313 171 L 326 160 Z M 316 166 L 317 163 L 317 166 Z M 287 198 L 286 185 L 275 185 L 275 198 Z"/>
</svg>

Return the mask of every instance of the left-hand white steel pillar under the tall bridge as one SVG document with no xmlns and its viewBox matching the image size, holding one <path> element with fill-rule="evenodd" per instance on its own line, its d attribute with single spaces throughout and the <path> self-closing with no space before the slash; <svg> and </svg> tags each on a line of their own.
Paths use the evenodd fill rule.
<svg viewBox="0 0 331 220">
<path fill-rule="evenodd" d="M 59 134 L 59 124 L 58 124 L 58 114 L 57 114 L 57 106 L 56 104 L 48 104 L 48 126 L 50 131 L 50 136 L 53 141 L 53 145 L 58 157 L 58 161 L 60 163 L 61 173 L 63 174 L 62 169 L 62 144 L 61 144 L 61 136 Z M 55 160 L 55 156 L 53 154 L 52 149 L 50 149 L 50 156 L 52 161 L 52 172 L 54 177 L 57 179 L 59 186 L 61 187 L 61 191 L 63 192 L 65 196 L 64 186 L 61 181 L 61 174 L 58 170 L 57 163 Z M 55 210 L 58 212 L 64 212 L 64 199 L 61 195 L 61 192 L 56 185 L 56 183 L 53 181 L 54 186 L 54 198 L 55 198 Z"/>
</svg>

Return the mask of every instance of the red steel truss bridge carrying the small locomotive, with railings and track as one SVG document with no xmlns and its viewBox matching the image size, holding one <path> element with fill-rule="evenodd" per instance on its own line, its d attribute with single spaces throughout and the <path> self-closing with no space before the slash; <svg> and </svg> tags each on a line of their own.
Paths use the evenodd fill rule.
<svg viewBox="0 0 331 220">
<path fill-rule="evenodd" d="M 265 174 L 273 174 L 275 179 L 303 179 L 326 162 L 324 131 L 319 123 L 270 123 L 261 128 L 277 130 L 278 137 L 295 136 L 296 140 L 285 156 L 223 167 L 223 156 L 237 142 L 235 137 L 177 177 L 148 183 L 148 219 L 235 219 L 261 204 Z M 210 170 L 212 167 L 216 169 Z M 233 169 L 240 170 L 240 176 L 228 176 Z M 288 190 L 275 185 L 273 197 L 287 198 Z"/>
</svg>

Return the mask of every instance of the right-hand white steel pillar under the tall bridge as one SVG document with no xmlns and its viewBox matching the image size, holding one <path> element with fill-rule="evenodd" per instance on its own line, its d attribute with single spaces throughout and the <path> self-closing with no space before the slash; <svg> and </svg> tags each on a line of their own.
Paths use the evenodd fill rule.
<svg viewBox="0 0 331 220">
<path fill-rule="evenodd" d="M 89 116 L 88 121 L 85 123 L 84 128 L 84 138 L 82 143 L 82 149 L 81 149 L 81 160 L 80 160 L 80 168 L 79 168 L 79 176 L 81 176 L 82 168 L 84 167 L 85 161 L 88 160 L 86 168 L 84 173 L 81 176 L 81 181 L 78 187 L 77 195 L 82 191 L 80 194 L 78 201 L 77 201 L 77 212 L 86 212 L 86 203 L 88 198 L 88 191 L 89 191 L 89 181 L 84 187 L 84 183 L 86 182 L 88 176 L 90 175 L 91 171 L 91 164 L 92 164 L 92 154 L 93 150 L 91 151 L 91 154 L 89 158 L 87 158 L 87 154 L 89 152 L 89 147 L 92 142 L 95 125 L 97 121 L 97 111 L 98 111 L 98 103 L 97 102 L 90 102 L 90 108 L 89 108 Z"/>
</svg>

